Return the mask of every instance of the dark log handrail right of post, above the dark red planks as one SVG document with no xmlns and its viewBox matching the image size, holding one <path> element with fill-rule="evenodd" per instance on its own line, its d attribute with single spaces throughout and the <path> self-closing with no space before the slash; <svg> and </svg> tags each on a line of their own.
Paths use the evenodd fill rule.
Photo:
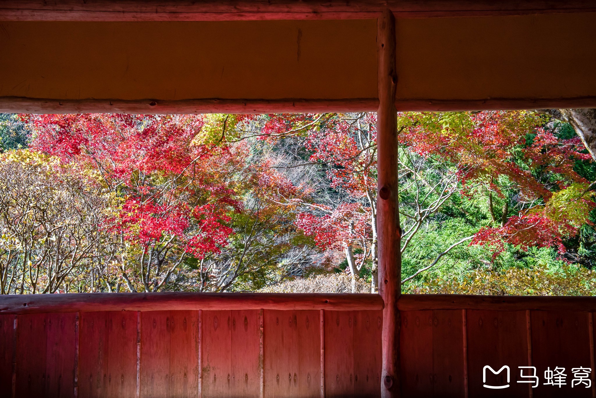
<svg viewBox="0 0 596 398">
<path fill-rule="evenodd" d="M 481 296 L 460 294 L 402 294 L 400 311 L 596 311 L 596 297 L 583 296 Z"/>
</svg>

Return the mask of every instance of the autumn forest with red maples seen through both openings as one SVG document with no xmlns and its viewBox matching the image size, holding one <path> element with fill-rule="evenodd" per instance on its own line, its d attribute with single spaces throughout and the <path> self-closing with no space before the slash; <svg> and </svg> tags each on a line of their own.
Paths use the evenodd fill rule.
<svg viewBox="0 0 596 398">
<path fill-rule="evenodd" d="M 399 113 L 403 291 L 592 295 L 572 125 Z M 0 292 L 376 289 L 374 113 L 0 114 Z"/>
</svg>

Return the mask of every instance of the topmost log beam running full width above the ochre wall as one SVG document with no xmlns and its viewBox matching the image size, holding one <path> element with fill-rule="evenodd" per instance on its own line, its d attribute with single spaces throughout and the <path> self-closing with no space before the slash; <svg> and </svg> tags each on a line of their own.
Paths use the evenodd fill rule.
<svg viewBox="0 0 596 398">
<path fill-rule="evenodd" d="M 596 11 L 591 0 L 2 0 L 0 21 L 222 21 L 499 16 Z"/>
</svg>

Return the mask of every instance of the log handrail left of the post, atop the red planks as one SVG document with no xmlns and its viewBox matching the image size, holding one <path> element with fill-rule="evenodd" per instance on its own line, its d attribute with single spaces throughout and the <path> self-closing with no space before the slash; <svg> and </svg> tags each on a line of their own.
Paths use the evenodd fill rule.
<svg viewBox="0 0 596 398">
<path fill-rule="evenodd" d="M 382 310 L 378 294 L 69 293 L 0 296 L 0 314 L 157 310 Z"/>
</svg>

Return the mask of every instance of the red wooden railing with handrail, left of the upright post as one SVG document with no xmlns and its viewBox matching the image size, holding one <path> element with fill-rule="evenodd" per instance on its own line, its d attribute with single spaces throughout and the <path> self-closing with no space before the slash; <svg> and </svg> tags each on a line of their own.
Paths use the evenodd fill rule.
<svg viewBox="0 0 596 398">
<path fill-rule="evenodd" d="M 371 294 L 0 297 L 0 397 L 380 394 Z"/>
</svg>

